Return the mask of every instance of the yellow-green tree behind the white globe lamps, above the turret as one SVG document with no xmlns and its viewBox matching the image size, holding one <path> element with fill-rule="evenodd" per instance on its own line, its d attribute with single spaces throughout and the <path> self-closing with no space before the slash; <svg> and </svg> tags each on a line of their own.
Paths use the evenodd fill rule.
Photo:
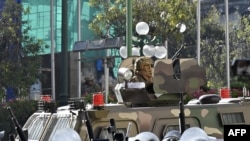
<svg viewBox="0 0 250 141">
<path fill-rule="evenodd" d="M 126 35 L 126 1 L 90 0 L 90 6 L 98 10 L 89 24 L 97 37 Z M 188 0 L 133 0 L 132 6 L 133 35 L 136 24 L 144 21 L 150 26 L 149 35 L 162 37 L 162 42 L 167 40 L 173 54 L 182 41 L 176 25 L 184 23 L 189 29 L 194 26 L 195 4 Z"/>
</svg>

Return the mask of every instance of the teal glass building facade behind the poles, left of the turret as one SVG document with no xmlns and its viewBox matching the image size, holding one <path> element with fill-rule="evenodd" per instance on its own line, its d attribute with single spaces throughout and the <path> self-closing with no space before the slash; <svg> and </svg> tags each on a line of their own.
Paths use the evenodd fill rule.
<svg viewBox="0 0 250 141">
<path fill-rule="evenodd" d="M 62 19 L 63 2 L 66 3 L 67 35 L 63 35 Z M 72 52 L 74 43 L 79 40 L 89 40 L 94 37 L 94 34 L 89 30 L 88 23 L 95 14 L 96 10 L 89 7 L 88 0 L 22 0 L 22 5 L 25 9 L 29 8 L 29 14 L 23 15 L 23 19 L 30 23 L 30 35 L 45 42 L 49 48 L 44 48 L 42 63 L 42 87 L 43 94 L 51 94 L 51 68 L 52 62 L 51 53 L 55 54 L 54 69 L 55 69 L 55 91 L 56 95 L 61 93 L 62 81 L 68 83 L 68 93 L 71 97 L 76 97 L 78 94 L 78 79 L 79 77 L 91 76 L 95 77 L 95 60 L 96 57 L 103 57 L 105 53 L 99 52 L 81 52 L 80 60 L 78 53 Z M 80 7 L 80 9 L 79 9 Z M 65 23 L 64 23 L 65 24 Z M 80 24 L 80 25 L 79 25 Z M 52 34 L 53 33 L 53 34 Z M 65 57 L 62 55 L 62 37 L 67 38 L 67 62 L 62 62 Z M 52 42 L 53 41 L 53 42 Z M 54 46 L 52 51 L 52 46 Z M 84 58 L 84 59 L 82 59 Z M 79 61 L 81 61 L 81 71 L 78 73 Z M 67 64 L 67 65 L 66 65 Z M 68 69 L 68 77 L 62 76 L 64 71 L 63 65 Z M 82 74 L 82 75 L 81 75 Z M 66 77 L 62 79 L 62 77 Z"/>
</svg>

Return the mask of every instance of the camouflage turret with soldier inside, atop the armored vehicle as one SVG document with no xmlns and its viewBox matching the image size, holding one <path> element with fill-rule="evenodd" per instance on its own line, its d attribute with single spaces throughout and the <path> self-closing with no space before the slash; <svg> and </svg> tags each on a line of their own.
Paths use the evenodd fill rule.
<svg viewBox="0 0 250 141">
<path fill-rule="evenodd" d="M 125 103 L 177 104 L 180 93 L 195 92 L 205 84 L 205 75 L 193 58 L 129 57 L 119 67 L 116 95 Z"/>
</svg>

